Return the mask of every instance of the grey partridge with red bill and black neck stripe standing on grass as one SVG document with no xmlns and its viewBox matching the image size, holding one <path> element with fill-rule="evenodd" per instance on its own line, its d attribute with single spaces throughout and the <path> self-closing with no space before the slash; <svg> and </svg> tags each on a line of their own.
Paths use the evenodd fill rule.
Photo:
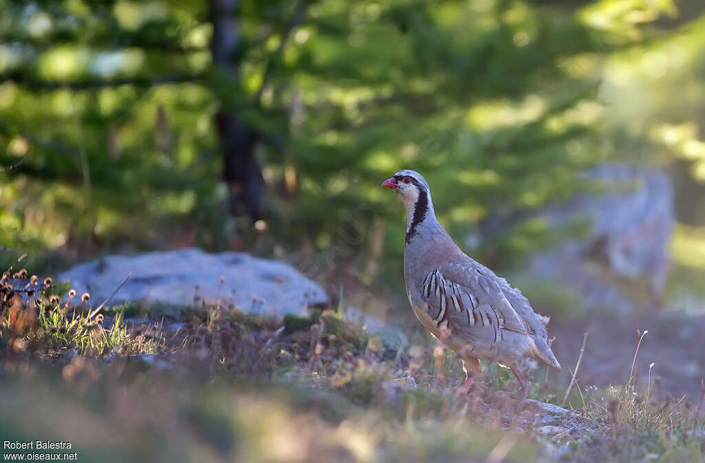
<svg viewBox="0 0 705 463">
<path fill-rule="evenodd" d="M 381 186 L 394 190 L 406 209 L 404 280 L 412 310 L 462 360 L 465 381 L 458 395 L 468 393 L 482 359 L 511 369 L 520 385 L 513 395 L 526 399 L 520 359 L 531 357 L 560 371 L 548 340 L 548 317 L 537 314 L 505 278 L 462 252 L 436 219 L 422 175 L 403 169 Z"/>
</svg>

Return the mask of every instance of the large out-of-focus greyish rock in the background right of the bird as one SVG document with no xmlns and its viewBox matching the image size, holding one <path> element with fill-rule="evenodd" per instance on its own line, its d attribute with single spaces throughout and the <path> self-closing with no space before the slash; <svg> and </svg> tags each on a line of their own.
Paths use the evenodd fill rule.
<svg viewBox="0 0 705 463">
<path fill-rule="evenodd" d="M 668 243 L 675 221 L 670 178 L 661 171 L 618 164 L 598 166 L 584 177 L 608 191 L 577 195 L 566 204 L 544 209 L 540 216 L 552 229 L 587 220 L 586 235 L 534 256 L 532 276 L 560 281 L 585 309 L 638 309 L 643 304 L 638 297 L 629 297 L 612 284 L 618 277 L 644 280 L 651 304 L 658 304 L 668 276 Z M 612 280 L 596 271 L 595 261 Z"/>
</svg>

